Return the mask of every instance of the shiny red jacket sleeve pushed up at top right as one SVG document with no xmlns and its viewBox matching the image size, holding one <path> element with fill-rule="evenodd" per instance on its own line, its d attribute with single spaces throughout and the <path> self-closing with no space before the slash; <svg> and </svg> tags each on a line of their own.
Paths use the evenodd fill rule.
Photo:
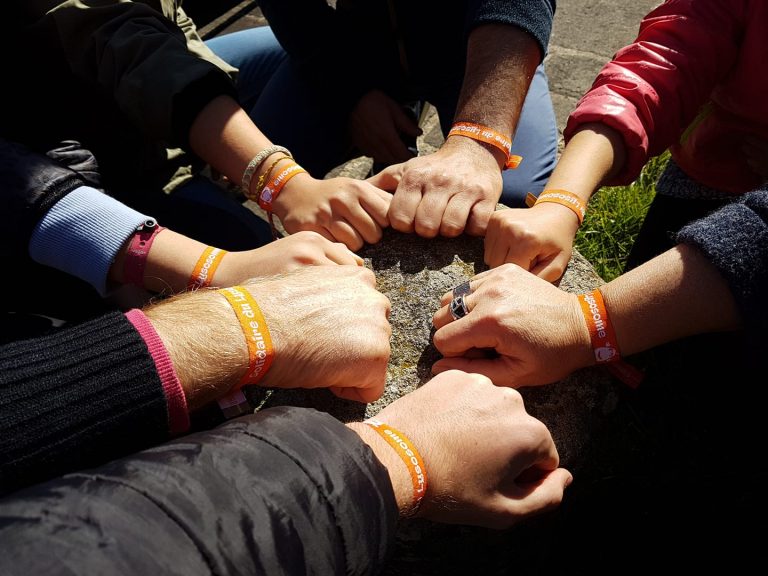
<svg viewBox="0 0 768 576">
<path fill-rule="evenodd" d="M 642 21 L 568 118 L 566 143 L 581 124 L 623 135 L 627 162 L 607 184 L 627 184 L 649 157 L 677 141 L 738 56 L 743 1 L 668 0 Z"/>
</svg>

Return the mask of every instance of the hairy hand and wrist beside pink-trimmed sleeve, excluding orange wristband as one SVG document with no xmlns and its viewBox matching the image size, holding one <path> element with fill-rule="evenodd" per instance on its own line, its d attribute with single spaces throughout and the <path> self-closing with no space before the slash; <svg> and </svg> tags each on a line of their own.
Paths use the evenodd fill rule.
<svg viewBox="0 0 768 576">
<path fill-rule="evenodd" d="M 373 272 L 354 265 L 310 266 L 241 285 L 258 303 L 275 350 L 259 385 L 329 388 L 359 402 L 381 396 L 390 304 L 376 290 Z M 190 409 L 225 396 L 247 370 L 242 329 L 217 291 L 187 293 L 145 314 L 168 350 Z"/>
</svg>

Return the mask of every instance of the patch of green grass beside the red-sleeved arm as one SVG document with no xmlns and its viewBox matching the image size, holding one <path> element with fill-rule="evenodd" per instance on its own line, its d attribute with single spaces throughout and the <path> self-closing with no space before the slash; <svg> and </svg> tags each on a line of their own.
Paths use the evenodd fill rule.
<svg viewBox="0 0 768 576">
<path fill-rule="evenodd" d="M 668 159 L 668 152 L 652 158 L 632 184 L 606 186 L 589 201 L 574 245 L 606 282 L 624 270 L 624 263 L 656 193 L 656 180 Z"/>
</svg>

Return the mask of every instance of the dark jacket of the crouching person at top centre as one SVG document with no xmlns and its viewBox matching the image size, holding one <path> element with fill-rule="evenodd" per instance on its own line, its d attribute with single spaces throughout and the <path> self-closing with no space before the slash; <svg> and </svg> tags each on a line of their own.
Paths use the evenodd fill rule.
<svg viewBox="0 0 768 576">
<path fill-rule="evenodd" d="M 259 5 L 305 77 L 351 106 L 372 88 L 406 101 L 420 97 L 421 86 L 460 83 L 467 35 L 484 23 L 527 31 L 543 58 L 556 2 L 339 0 L 335 10 L 323 0 L 262 0 Z"/>
</svg>

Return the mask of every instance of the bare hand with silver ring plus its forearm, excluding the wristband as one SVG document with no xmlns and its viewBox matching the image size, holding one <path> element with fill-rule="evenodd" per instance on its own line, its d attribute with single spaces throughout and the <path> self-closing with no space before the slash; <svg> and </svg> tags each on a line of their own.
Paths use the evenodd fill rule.
<svg viewBox="0 0 768 576">
<path fill-rule="evenodd" d="M 433 365 L 433 373 L 464 370 L 517 388 L 549 384 L 595 363 L 576 294 L 515 264 L 478 274 L 470 286 L 465 297 L 469 314 L 453 320 L 451 293 L 446 293 L 434 315 L 434 343 L 444 358 Z M 742 327 L 725 280 L 687 245 L 668 250 L 600 291 L 623 355 Z M 491 349 L 495 357 L 478 355 L 477 349 Z"/>
</svg>

